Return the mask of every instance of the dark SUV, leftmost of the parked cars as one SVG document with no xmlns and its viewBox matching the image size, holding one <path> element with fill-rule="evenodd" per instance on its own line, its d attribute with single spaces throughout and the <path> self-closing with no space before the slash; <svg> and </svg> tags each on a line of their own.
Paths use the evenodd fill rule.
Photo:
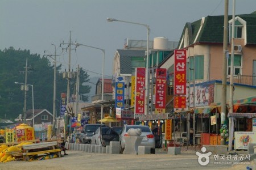
<svg viewBox="0 0 256 170">
<path fill-rule="evenodd" d="M 81 143 L 92 143 L 93 133 L 101 126 L 102 124 L 86 124 L 80 134 Z"/>
</svg>

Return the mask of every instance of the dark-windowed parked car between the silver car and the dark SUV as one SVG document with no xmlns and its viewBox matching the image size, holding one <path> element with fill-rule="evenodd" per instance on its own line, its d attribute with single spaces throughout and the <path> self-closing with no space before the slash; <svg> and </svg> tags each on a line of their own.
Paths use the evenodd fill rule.
<svg viewBox="0 0 256 170">
<path fill-rule="evenodd" d="M 100 126 L 92 136 L 92 144 L 109 146 L 111 141 L 119 141 L 119 134 L 106 125 Z"/>
</svg>

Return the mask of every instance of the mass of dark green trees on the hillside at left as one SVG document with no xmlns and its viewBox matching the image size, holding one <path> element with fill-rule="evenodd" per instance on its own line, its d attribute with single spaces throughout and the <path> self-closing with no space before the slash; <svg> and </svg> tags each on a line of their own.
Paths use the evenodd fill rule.
<svg viewBox="0 0 256 170">
<path fill-rule="evenodd" d="M 27 84 L 34 87 L 34 108 L 47 109 L 52 112 L 53 108 L 53 69 L 49 58 L 31 54 L 30 50 L 15 50 L 13 47 L 0 50 L 0 118 L 14 120 L 23 113 L 24 91 L 20 90 L 19 84 L 25 82 L 26 58 L 28 61 Z M 67 92 L 67 79 L 63 79 L 61 65 L 56 66 L 56 110 L 60 113 L 60 94 Z M 88 101 L 90 86 L 83 83 L 89 81 L 89 75 L 80 69 L 80 95 L 82 101 Z M 76 89 L 76 79 L 71 79 L 71 94 Z M 28 86 L 30 87 L 30 86 Z M 32 109 L 32 90 L 27 91 L 27 109 Z"/>
</svg>

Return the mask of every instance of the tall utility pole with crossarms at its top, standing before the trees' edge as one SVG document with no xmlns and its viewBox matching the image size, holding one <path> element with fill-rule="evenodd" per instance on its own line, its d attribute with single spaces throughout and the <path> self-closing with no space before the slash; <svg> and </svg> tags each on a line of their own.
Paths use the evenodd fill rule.
<svg viewBox="0 0 256 170">
<path fill-rule="evenodd" d="M 69 102 L 69 98 L 70 98 L 70 79 L 72 79 L 72 75 L 73 75 L 73 71 L 71 72 L 71 50 L 72 49 L 75 49 L 76 50 L 76 48 L 71 48 L 71 45 L 75 45 L 75 44 L 73 44 L 73 42 L 71 42 L 71 31 L 69 31 L 69 42 L 68 43 L 64 43 L 64 42 L 62 42 L 61 44 L 60 44 L 60 47 L 61 47 L 61 45 L 68 45 L 68 47 L 67 48 L 62 48 L 62 50 L 66 50 L 66 52 L 67 52 L 67 50 L 68 50 L 68 53 L 69 53 L 69 55 L 68 55 L 68 73 L 64 73 L 65 74 L 65 76 L 63 76 L 64 78 L 67 78 L 67 80 L 68 80 L 68 84 L 67 84 L 67 104 L 68 103 L 70 103 Z"/>
</svg>

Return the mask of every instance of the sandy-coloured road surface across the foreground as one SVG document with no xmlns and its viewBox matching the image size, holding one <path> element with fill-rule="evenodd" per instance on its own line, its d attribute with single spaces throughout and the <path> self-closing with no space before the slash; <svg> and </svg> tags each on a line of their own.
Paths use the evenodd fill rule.
<svg viewBox="0 0 256 170">
<path fill-rule="evenodd" d="M 15 161 L 0 163 L 0 170 L 40 169 L 246 169 L 246 165 L 233 167 L 232 164 L 216 164 L 210 159 L 207 166 L 198 163 L 195 151 L 181 151 L 181 155 L 167 155 L 162 150 L 151 155 L 95 154 L 68 151 L 62 158 L 32 162 Z"/>
</svg>

